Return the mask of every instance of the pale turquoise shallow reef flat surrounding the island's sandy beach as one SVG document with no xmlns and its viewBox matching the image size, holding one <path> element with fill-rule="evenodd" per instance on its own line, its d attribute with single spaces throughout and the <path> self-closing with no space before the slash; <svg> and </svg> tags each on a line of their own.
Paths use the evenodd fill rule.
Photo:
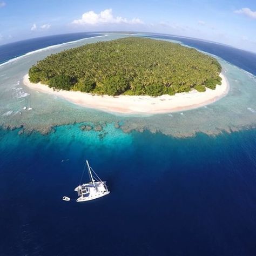
<svg viewBox="0 0 256 256">
<path fill-rule="evenodd" d="M 149 130 L 177 137 L 193 136 L 196 132 L 218 134 L 237 131 L 256 124 L 255 76 L 217 57 L 230 84 L 228 95 L 217 102 L 199 109 L 156 115 L 122 115 L 86 109 L 55 96 L 28 89 L 22 84 L 23 76 L 30 66 L 45 56 L 84 43 L 105 41 L 127 35 L 107 35 L 62 44 L 53 48 L 19 57 L 0 66 L 0 125 L 25 131 L 48 133 L 52 127 L 63 124 L 90 122 L 118 123 L 124 132 Z M 32 110 L 23 110 L 23 107 Z"/>
</svg>

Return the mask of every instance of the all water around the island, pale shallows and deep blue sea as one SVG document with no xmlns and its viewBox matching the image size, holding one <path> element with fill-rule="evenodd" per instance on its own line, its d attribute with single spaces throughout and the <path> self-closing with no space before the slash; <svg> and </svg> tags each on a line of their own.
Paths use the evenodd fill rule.
<svg viewBox="0 0 256 256">
<path fill-rule="evenodd" d="M 254 55 L 194 40 L 218 56 L 231 90 L 182 114 L 117 116 L 22 85 L 50 53 L 122 36 L 60 40 L 32 54 L 41 48 L 28 44 L 12 55 L 26 56 L 0 67 L 0 255 L 256 255 Z M 247 63 L 236 65 L 239 55 Z M 50 133 L 37 132 L 48 122 Z M 73 189 L 86 159 L 111 193 L 78 204 Z"/>
</svg>

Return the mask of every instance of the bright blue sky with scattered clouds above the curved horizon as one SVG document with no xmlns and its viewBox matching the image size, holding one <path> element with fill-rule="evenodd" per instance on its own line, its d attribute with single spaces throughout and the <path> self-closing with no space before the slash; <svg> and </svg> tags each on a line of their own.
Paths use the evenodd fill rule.
<svg viewBox="0 0 256 256">
<path fill-rule="evenodd" d="M 171 33 L 256 52 L 256 1 L 0 0 L 0 44 L 102 30 Z"/>
</svg>

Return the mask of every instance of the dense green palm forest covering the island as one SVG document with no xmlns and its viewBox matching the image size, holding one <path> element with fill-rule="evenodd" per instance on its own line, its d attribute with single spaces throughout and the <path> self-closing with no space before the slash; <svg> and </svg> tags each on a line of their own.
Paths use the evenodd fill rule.
<svg viewBox="0 0 256 256">
<path fill-rule="evenodd" d="M 32 83 L 100 95 L 174 95 L 221 84 L 216 59 L 180 44 L 127 37 L 50 55 L 29 70 Z"/>
</svg>

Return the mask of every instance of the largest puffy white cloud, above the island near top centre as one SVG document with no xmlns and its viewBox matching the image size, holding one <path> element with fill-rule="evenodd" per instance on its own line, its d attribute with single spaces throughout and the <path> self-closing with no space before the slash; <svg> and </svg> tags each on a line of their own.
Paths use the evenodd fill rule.
<svg viewBox="0 0 256 256">
<path fill-rule="evenodd" d="M 126 23 L 126 24 L 144 24 L 139 18 L 128 20 L 122 17 L 114 17 L 112 9 L 106 9 L 96 14 L 94 11 L 87 11 L 82 15 L 82 18 L 75 19 L 72 24 L 76 25 L 97 25 L 104 23 Z"/>
</svg>

